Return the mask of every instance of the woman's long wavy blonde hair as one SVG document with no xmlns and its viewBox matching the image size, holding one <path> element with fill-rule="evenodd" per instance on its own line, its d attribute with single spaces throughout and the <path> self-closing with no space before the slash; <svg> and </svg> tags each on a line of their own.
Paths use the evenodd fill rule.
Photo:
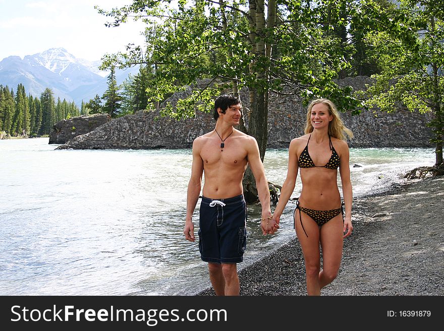
<svg viewBox="0 0 444 331">
<path fill-rule="evenodd" d="M 318 103 L 323 103 L 328 107 L 328 113 L 333 116 L 333 119 L 328 123 L 328 134 L 331 137 L 335 137 L 340 140 L 346 140 L 346 135 L 349 138 L 353 138 L 352 131 L 344 125 L 344 122 L 339 115 L 339 111 L 336 108 L 335 104 L 332 103 L 328 99 L 315 99 L 308 105 L 307 109 L 307 122 L 305 123 L 305 134 L 309 134 L 313 132 L 313 125 L 311 125 L 310 117 L 311 117 L 311 109 L 314 105 Z"/>
</svg>

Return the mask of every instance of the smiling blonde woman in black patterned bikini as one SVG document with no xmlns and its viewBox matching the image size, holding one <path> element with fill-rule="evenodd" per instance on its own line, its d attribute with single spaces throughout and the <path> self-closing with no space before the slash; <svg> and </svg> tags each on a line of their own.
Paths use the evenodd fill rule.
<svg viewBox="0 0 444 331">
<path fill-rule="evenodd" d="M 353 138 L 352 131 L 345 127 L 330 100 L 316 99 L 310 103 L 305 135 L 290 143 L 287 178 L 274 210 L 273 219 L 279 223 L 300 169 L 302 190 L 294 213 L 294 224 L 305 259 L 308 295 L 320 295 L 321 289 L 336 278 L 341 265 L 343 239 L 353 230 L 353 193 L 345 135 Z M 338 167 L 344 214 L 337 183 Z"/>
</svg>

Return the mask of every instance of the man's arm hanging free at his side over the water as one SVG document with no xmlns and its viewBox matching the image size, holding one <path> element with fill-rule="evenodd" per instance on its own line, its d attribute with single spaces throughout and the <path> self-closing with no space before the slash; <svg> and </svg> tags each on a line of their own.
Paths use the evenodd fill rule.
<svg viewBox="0 0 444 331">
<path fill-rule="evenodd" d="M 200 157 L 201 142 L 196 138 L 193 142 L 193 163 L 191 165 L 191 178 L 187 189 L 187 216 L 185 218 L 184 234 L 185 239 L 194 241 L 194 224 L 192 216 L 199 199 L 200 188 L 202 185 L 203 162 Z"/>
</svg>

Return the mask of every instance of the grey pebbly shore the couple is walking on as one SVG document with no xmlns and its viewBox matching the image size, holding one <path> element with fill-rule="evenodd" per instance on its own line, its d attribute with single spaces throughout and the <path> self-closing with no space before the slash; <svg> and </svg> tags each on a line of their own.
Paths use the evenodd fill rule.
<svg viewBox="0 0 444 331">
<path fill-rule="evenodd" d="M 353 198 L 353 233 L 321 295 L 444 295 L 444 176 Z M 278 233 L 279 235 L 279 233 Z M 240 269 L 240 295 L 306 295 L 296 238 Z M 212 288 L 194 295 L 215 295 Z"/>
</svg>

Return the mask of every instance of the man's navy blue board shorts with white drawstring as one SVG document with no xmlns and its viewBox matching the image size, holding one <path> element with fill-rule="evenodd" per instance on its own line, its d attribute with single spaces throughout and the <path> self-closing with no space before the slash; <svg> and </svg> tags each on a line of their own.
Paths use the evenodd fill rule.
<svg viewBox="0 0 444 331">
<path fill-rule="evenodd" d="M 199 252 L 205 262 L 238 263 L 247 247 L 247 205 L 244 196 L 210 199 L 199 210 Z"/>
</svg>

